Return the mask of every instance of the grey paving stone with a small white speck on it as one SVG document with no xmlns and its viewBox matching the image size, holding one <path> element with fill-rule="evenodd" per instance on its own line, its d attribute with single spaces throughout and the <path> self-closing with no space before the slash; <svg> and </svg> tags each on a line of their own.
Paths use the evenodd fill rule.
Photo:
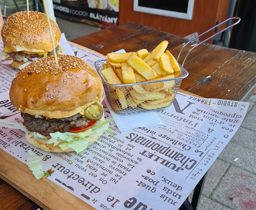
<svg viewBox="0 0 256 210">
<path fill-rule="evenodd" d="M 247 147 L 243 147 L 234 142 L 229 142 L 221 154 L 218 156 L 221 160 L 225 160 L 232 165 L 236 165 L 247 171 L 256 173 L 256 151 Z M 234 159 L 238 158 L 235 162 Z M 256 185 L 255 185 L 256 186 Z"/>
</svg>

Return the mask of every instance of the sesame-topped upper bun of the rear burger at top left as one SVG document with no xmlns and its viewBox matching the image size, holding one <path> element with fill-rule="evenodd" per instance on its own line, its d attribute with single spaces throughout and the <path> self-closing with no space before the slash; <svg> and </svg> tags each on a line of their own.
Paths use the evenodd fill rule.
<svg viewBox="0 0 256 210">
<path fill-rule="evenodd" d="M 57 23 L 50 18 L 54 46 L 60 41 L 61 32 Z M 44 53 L 53 50 L 46 14 L 20 11 L 10 15 L 3 24 L 1 35 L 8 51 Z M 9 52 L 8 52 L 9 53 Z"/>
</svg>

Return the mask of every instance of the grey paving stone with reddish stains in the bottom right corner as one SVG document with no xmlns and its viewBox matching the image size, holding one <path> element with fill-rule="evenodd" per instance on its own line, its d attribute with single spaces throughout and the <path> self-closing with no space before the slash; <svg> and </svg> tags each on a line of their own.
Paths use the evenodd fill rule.
<svg viewBox="0 0 256 210">
<path fill-rule="evenodd" d="M 255 183 L 255 174 L 231 166 L 211 198 L 235 210 L 255 210 Z"/>
</svg>

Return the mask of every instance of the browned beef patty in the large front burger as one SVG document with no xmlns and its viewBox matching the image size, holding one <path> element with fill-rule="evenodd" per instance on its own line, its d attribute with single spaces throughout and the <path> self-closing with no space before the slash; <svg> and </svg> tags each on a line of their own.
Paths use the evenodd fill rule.
<svg viewBox="0 0 256 210">
<path fill-rule="evenodd" d="M 68 128 L 84 128 L 91 121 L 84 118 L 81 114 L 76 114 L 67 118 L 35 118 L 35 115 L 21 113 L 24 118 L 23 125 L 29 131 L 35 131 L 43 136 L 50 136 L 51 133 L 63 131 Z"/>
</svg>

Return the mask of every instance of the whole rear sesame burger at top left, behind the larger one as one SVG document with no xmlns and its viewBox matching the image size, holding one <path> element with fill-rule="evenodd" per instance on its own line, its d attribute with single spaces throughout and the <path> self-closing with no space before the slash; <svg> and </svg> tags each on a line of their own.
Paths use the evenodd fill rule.
<svg viewBox="0 0 256 210">
<path fill-rule="evenodd" d="M 61 32 L 57 23 L 50 18 L 51 31 L 56 51 L 59 50 Z M 1 35 L 4 50 L 0 55 L 3 64 L 20 69 L 30 61 L 53 55 L 53 47 L 46 14 L 20 11 L 10 15 L 3 24 Z"/>
</svg>

